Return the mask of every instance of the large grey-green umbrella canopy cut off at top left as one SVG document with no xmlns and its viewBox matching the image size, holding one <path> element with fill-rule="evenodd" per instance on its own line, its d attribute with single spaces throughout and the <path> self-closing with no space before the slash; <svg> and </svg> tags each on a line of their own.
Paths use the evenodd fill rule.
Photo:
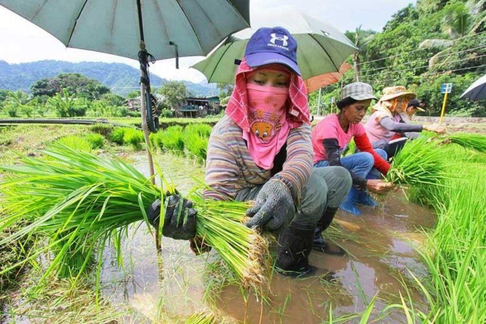
<svg viewBox="0 0 486 324">
<path fill-rule="evenodd" d="M 206 55 L 248 27 L 248 0 L 140 0 L 144 42 L 156 59 Z M 0 0 L 67 47 L 138 59 L 136 0 Z"/>
</svg>

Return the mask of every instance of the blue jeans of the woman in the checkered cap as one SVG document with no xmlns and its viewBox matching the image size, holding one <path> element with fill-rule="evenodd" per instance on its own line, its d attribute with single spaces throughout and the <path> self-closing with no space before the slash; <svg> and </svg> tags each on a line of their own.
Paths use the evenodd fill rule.
<svg viewBox="0 0 486 324">
<path fill-rule="evenodd" d="M 386 152 L 382 149 L 375 149 L 384 160 L 386 160 Z M 365 179 L 379 179 L 380 171 L 373 168 L 375 159 L 373 155 L 368 152 L 354 153 L 341 158 L 341 165 L 348 171 L 352 171 L 354 174 Z M 329 167 L 328 160 L 320 160 L 314 163 L 314 168 Z"/>
</svg>

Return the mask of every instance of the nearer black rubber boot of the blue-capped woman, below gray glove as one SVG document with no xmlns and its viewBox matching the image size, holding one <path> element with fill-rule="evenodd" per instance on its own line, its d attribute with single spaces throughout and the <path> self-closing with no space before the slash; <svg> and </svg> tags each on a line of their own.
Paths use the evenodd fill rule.
<svg viewBox="0 0 486 324">
<path fill-rule="evenodd" d="M 312 274 L 315 267 L 309 265 L 315 228 L 291 223 L 278 237 L 278 273 L 292 277 Z"/>
</svg>

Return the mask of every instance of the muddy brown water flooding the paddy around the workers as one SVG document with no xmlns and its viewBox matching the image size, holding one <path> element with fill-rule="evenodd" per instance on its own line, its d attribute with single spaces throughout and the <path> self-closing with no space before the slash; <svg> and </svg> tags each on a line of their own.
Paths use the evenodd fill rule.
<svg viewBox="0 0 486 324">
<path fill-rule="evenodd" d="M 131 158 L 146 172 L 144 155 Z M 195 184 L 191 176 L 202 178 L 204 174 L 202 167 L 183 158 L 159 155 L 157 161 L 182 192 Z M 236 286 L 211 285 L 215 280 L 208 274 L 207 259 L 194 256 L 185 241 L 163 238 L 162 257 L 157 258 L 154 239 L 144 224 L 123 244 L 123 270 L 115 266 L 114 252 L 107 250 L 103 296 L 134 309 L 133 317 L 127 319 L 134 323 L 156 317 L 160 322 L 176 322 L 202 307 L 246 323 L 321 323 L 329 318 L 330 307 L 334 318 L 360 312 L 378 293 L 377 316 L 386 305 L 399 302 L 399 291 L 406 294 L 400 280 L 412 282 L 408 269 L 418 277 L 426 274 L 412 245 L 423 240 L 419 229 L 432 227 L 435 219 L 429 210 L 408 203 L 400 192 L 389 194 L 380 208 L 360 209 L 359 217 L 342 211 L 337 214 L 358 229 L 326 233 L 347 250 L 347 256 L 313 251 L 310 262 L 317 267 L 316 273 L 305 279 L 274 274 L 264 301 L 251 293 L 242 294 Z M 412 290 L 411 298 L 426 308 L 418 292 Z M 402 320 L 399 312 L 380 319 Z"/>
</svg>

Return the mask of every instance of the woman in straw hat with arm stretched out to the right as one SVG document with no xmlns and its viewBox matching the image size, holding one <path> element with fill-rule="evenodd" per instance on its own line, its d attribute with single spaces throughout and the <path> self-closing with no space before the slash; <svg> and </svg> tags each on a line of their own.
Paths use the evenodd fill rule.
<svg viewBox="0 0 486 324">
<path fill-rule="evenodd" d="M 396 133 L 421 132 L 422 130 L 439 134 L 445 132 L 445 128 L 440 125 L 400 122 L 400 113 L 405 112 L 408 102 L 415 97 L 414 92 L 407 91 L 402 85 L 385 87 L 382 98 L 373 106 L 374 113 L 364 126 L 373 148 L 385 150 L 388 158 L 393 157 L 407 140 L 407 137 L 392 140 Z"/>
</svg>

